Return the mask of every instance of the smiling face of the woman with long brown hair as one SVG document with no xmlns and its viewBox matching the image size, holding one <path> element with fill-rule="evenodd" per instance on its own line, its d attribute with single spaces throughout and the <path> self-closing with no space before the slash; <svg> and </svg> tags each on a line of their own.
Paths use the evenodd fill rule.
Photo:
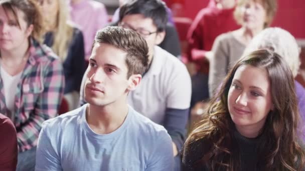
<svg viewBox="0 0 305 171">
<path fill-rule="evenodd" d="M 228 109 L 237 130 L 259 131 L 272 109 L 266 69 L 251 65 L 237 68 L 228 93 Z"/>
</svg>

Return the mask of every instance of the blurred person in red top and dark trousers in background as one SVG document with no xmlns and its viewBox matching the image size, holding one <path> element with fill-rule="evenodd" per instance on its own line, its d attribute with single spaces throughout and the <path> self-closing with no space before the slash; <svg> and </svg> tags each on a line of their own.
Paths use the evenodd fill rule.
<svg viewBox="0 0 305 171">
<path fill-rule="evenodd" d="M 212 45 L 221 33 L 238 29 L 233 12 L 236 0 L 210 0 L 207 7 L 201 9 L 189 28 L 188 65 L 195 67 L 192 75 L 191 107 L 198 101 L 209 98 L 208 68 L 212 57 Z"/>
</svg>

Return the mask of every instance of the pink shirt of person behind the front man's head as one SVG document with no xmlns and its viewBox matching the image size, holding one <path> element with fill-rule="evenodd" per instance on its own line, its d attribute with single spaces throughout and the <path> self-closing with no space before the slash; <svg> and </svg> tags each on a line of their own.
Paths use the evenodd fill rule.
<svg viewBox="0 0 305 171">
<path fill-rule="evenodd" d="M 108 23 L 107 10 L 104 4 L 95 0 L 82 0 L 77 4 L 70 2 L 70 6 L 71 18 L 83 32 L 85 59 L 88 60 L 96 31 Z"/>
</svg>

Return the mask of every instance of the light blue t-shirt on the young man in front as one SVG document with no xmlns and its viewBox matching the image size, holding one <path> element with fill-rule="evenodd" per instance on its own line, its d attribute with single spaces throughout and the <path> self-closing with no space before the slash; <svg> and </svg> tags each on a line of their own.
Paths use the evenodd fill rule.
<svg viewBox="0 0 305 171">
<path fill-rule="evenodd" d="M 36 171 L 173 169 L 172 140 L 163 126 L 129 106 L 118 129 L 97 134 L 86 121 L 86 107 L 87 104 L 43 123 Z"/>
</svg>

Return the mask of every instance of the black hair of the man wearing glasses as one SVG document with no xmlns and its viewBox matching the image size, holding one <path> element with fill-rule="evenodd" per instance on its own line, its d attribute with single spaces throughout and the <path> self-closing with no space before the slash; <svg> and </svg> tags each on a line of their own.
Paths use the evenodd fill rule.
<svg viewBox="0 0 305 171">
<path fill-rule="evenodd" d="M 129 14 L 142 14 L 153 19 L 158 32 L 164 31 L 168 22 L 167 6 L 162 0 L 128 0 L 120 7 L 119 20 Z"/>
</svg>

